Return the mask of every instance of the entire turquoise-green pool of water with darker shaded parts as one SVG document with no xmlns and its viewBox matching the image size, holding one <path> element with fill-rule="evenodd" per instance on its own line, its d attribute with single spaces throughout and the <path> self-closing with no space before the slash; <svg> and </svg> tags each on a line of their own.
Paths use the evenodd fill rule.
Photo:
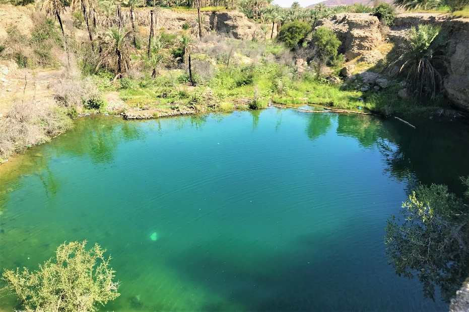
<svg viewBox="0 0 469 312">
<path fill-rule="evenodd" d="M 0 269 L 86 239 L 121 282 L 103 311 L 445 311 L 395 275 L 384 228 L 418 182 L 463 191 L 469 126 L 411 122 L 274 108 L 77 120 L 0 167 Z"/>
</svg>

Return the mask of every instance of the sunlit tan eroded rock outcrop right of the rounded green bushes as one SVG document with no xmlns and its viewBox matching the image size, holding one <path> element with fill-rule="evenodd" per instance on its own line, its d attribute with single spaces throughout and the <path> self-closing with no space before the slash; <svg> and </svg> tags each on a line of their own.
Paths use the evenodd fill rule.
<svg viewBox="0 0 469 312">
<path fill-rule="evenodd" d="M 319 24 L 336 33 L 342 42 L 339 53 L 348 59 L 372 50 L 382 41 L 378 18 L 371 14 L 342 13 L 330 20 L 324 19 Z"/>
</svg>

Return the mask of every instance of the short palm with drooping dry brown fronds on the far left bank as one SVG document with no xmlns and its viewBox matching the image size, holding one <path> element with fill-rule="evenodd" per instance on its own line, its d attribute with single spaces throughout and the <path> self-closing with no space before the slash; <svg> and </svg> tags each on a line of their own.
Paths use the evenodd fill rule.
<svg viewBox="0 0 469 312">
<path fill-rule="evenodd" d="M 96 70 L 99 69 L 102 62 L 109 56 L 114 56 L 114 70 L 115 79 L 122 77 L 126 68 L 130 67 L 130 53 L 128 49 L 128 37 L 132 33 L 131 30 L 127 31 L 125 28 L 111 27 L 104 36 L 99 40 L 99 45 L 104 53 L 102 59 L 96 66 Z"/>
</svg>

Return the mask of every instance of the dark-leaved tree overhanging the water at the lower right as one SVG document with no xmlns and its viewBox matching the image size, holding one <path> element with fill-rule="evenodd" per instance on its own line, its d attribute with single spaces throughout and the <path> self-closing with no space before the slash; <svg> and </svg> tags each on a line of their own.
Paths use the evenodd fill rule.
<svg viewBox="0 0 469 312">
<path fill-rule="evenodd" d="M 446 186 L 420 187 L 386 227 L 386 255 L 397 275 L 417 276 L 424 295 L 449 302 L 469 274 L 469 201 Z"/>
</svg>

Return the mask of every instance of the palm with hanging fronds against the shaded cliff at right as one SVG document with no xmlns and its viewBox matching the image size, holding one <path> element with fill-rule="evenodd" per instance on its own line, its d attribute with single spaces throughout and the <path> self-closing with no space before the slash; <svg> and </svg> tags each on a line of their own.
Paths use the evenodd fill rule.
<svg viewBox="0 0 469 312">
<path fill-rule="evenodd" d="M 439 26 L 412 27 L 408 51 L 390 65 L 401 64 L 399 73 L 407 73 L 408 90 L 414 95 L 431 95 L 433 98 L 442 86 L 442 73 L 449 70 L 448 57 L 445 55 L 446 41 L 440 31 Z"/>
</svg>

